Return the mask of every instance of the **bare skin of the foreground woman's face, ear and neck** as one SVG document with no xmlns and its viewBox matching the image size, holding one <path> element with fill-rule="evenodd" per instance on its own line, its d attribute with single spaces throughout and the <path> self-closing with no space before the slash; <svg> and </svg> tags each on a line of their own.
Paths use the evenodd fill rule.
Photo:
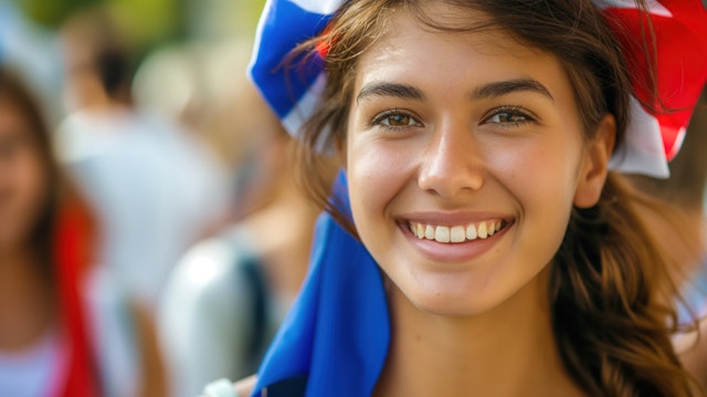
<svg viewBox="0 0 707 397">
<path fill-rule="evenodd" d="M 345 145 L 354 220 L 390 281 L 374 395 L 581 395 L 555 346 L 548 264 L 572 206 L 599 199 L 613 118 L 585 139 L 558 60 L 503 32 L 433 32 L 403 11 L 389 28 L 358 65 Z M 503 229 L 462 244 L 409 230 L 487 220 Z"/>
</svg>

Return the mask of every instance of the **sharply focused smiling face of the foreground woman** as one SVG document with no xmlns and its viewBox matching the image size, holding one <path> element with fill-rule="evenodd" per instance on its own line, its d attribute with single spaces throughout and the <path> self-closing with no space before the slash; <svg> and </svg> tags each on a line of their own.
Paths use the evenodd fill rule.
<svg viewBox="0 0 707 397">
<path fill-rule="evenodd" d="M 435 32 L 399 11 L 362 55 L 351 98 L 359 236 L 419 309 L 483 313 L 538 283 L 572 205 L 595 203 L 605 175 L 592 173 L 611 144 L 582 136 L 555 58 L 499 31 Z"/>
</svg>

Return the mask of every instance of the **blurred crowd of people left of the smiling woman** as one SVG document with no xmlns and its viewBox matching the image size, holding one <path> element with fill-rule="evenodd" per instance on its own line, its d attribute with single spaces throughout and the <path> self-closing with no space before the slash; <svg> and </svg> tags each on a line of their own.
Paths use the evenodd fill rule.
<svg viewBox="0 0 707 397">
<path fill-rule="evenodd" d="M 138 51 L 109 2 L 0 0 L 0 395 L 197 396 L 293 301 L 317 210 L 246 79 L 262 4 L 209 3 Z"/>
</svg>

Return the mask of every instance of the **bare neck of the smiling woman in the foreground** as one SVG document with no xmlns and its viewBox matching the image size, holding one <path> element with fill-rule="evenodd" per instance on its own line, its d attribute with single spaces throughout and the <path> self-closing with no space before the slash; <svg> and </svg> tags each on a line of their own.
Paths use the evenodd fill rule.
<svg viewBox="0 0 707 397">
<path fill-rule="evenodd" d="M 397 288 L 389 300 L 391 346 L 377 396 L 581 395 L 555 344 L 546 283 L 474 317 L 422 312 Z"/>
</svg>

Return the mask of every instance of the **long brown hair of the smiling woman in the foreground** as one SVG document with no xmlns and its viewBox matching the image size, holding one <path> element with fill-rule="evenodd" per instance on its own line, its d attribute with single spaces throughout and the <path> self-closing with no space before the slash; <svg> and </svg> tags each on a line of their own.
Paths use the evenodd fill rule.
<svg viewBox="0 0 707 397">
<path fill-rule="evenodd" d="M 489 18 L 469 25 L 463 17 L 431 20 L 424 1 L 348 1 L 320 38 L 296 50 L 310 52 L 321 42 L 328 46 L 328 85 L 302 132 L 308 147 L 302 153 L 303 180 L 314 199 L 354 233 L 338 203 L 329 201 L 326 185 L 316 179 L 319 159 L 314 149 L 344 138 L 360 54 L 384 34 L 390 14 L 401 8 L 432 29 L 503 29 L 519 42 L 553 54 L 573 86 L 585 138 L 610 113 L 616 121 L 618 145 L 623 140 L 631 84 L 620 43 L 590 0 L 446 2 Z M 556 341 L 568 373 L 589 394 L 692 396 L 689 376 L 669 338 L 676 326 L 674 309 L 664 304 L 669 264 L 633 207 L 642 200 L 620 175 L 610 173 L 599 203 L 573 210 L 551 264 Z M 674 285 L 667 283 L 667 290 L 672 299 Z"/>
</svg>

